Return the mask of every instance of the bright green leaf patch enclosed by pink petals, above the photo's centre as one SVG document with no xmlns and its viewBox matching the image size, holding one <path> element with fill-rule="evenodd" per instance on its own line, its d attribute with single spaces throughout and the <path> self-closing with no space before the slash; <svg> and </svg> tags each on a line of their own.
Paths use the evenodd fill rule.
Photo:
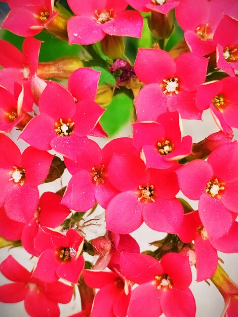
<svg viewBox="0 0 238 317">
<path fill-rule="evenodd" d="M 132 110 L 133 101 L 128 95 L 115 95 L 100 120 L 104 131 L 109 136 L 117 133 L 131 120 Z"/>
</svg>

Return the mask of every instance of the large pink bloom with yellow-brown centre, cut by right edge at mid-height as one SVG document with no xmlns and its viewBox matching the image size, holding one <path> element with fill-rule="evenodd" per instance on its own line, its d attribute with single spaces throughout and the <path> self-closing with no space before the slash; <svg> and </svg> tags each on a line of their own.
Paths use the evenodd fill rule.
<svg viewBox="0 0 238 317">
<path fill-rule="evenodd" d="M 235 141 L 219 146 L 207 162 L 194 160 L 176 170 L 182 192 L 199 200 L 199 216 L 211 239 L 227 234 L 238 213 L 237 163 Z"/>
</svg>

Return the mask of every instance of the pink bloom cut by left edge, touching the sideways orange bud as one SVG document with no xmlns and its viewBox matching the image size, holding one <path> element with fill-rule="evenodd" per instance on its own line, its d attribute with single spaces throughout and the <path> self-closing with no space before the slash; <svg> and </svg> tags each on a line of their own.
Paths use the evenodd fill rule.
<svg viewBox="0 0 238 317">
<path fill-rule="evenodd" d="M 14 94 L 15 82 L 24 87 L 23 109 L 32 111 L 34 97 L 31 93 L 30 78 L 36 73 L 41 41 L 34 37 L 25 38 L 22 51 L 11 43 L 0 39 L 0 85 Z"/>
</svg>

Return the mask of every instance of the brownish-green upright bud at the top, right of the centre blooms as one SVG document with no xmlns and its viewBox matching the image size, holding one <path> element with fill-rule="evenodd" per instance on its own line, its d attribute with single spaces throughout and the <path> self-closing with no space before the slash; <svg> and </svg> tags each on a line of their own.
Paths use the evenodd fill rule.
<svg viewBox="0 0 238 317">
<path fill-rule="evenodd" d="M 148 19 L 148 26 L 153 35 L 157 39 L 170 37 L 174 30 L 174 21 L 172 12 L 163 14 L 160 12 L 151 12 L 151 17 Z"/>
</svg>

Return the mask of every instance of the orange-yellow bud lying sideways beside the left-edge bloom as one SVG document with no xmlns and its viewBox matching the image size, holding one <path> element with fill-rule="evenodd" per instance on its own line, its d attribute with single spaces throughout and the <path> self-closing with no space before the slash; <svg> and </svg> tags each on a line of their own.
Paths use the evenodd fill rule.
<svg viewBox="0 0 238 317">
<path fill-rule="evenodd" d="M 37 76 L 42 79 L 68 79 L 70 74 L 80 67 L 83 67 L 83 63 L 78 57 L 61 57 L 54 61 L 39 63 L 37 68 Z"/>
</svg>

